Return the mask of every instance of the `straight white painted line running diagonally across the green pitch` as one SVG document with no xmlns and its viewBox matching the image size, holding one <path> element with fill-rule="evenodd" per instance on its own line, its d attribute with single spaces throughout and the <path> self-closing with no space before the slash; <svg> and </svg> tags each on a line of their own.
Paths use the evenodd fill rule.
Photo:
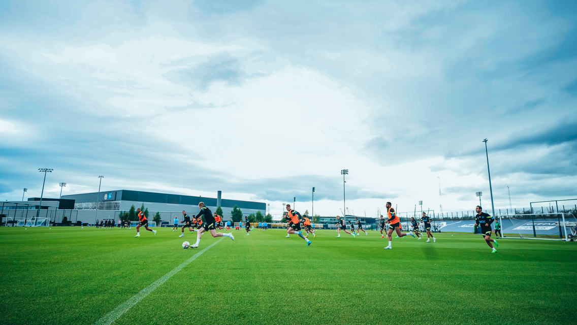
<svg viewBox="0 0 577 325">
<path fill-rule="evenodd" d="M 196 260 L 196 258 L 200 255 L 202 255 L 204 252 L 208 251 L 209 248 L 211 248 L 212 246 L 218 244 L 218 242 L 220 242 L 221 240 L 223 240 L 224 237 L 220 238 L 218 241 L 213 242 L 211 245 L 209 245 L 207 248 L 203 249 L 202 251 L 194 254 L 193 257 L 190 257 L 190 259 L 186 260 L 185 262 L 183 262 L 182 264 L 180 264 L 179 266 L 175 267 L 172 271 L 168 272 L 167 274 L 164 274 L 162 276 L 162 278 L 156 280 L 155 282 L 153 282 L 151 285 L 145 287 L 144 289 L 140 290 L 140 292 L 138 292 L 137 294 L 135 294 L 134 296 L 132 296 L 132 298 L 130 298 L 129 300 L 126 300 L 122 305 L 119 305 L 116 309 L 114 309 L 113 311 L 111 311 L 110 313 L 108 313 L 108 315 L 102 317 L 101 319 L 98 320 L 98 322 L 94 323 L 95 325 L 110 325 L 112 323 L 114 323 L 117 319 L 120 318 L 120 316 L 122 316 L 125 312 L 128 312 L 128 309 L 132 308 L 132 306 L 138 304 L 138 302 L 140 302 L 141 300 L 143 300 L 144 298 L 146 298 L 146 296 L 148 296 L 149 293 L 153 292 L 154 289 L 156 289 L 157 287 L 159 287 L 160 285 L 162 285 L 162 283 L 166 282 L 168 279 L 172 278 L 173 275 L 177 274 L 178 271 L 182 270 L 182 268 L 184 268 L 185 266 L 187 266 L 188 264 L 190 264 L 190 262 L 192 262 L 193 260 Z"/>
</svg>

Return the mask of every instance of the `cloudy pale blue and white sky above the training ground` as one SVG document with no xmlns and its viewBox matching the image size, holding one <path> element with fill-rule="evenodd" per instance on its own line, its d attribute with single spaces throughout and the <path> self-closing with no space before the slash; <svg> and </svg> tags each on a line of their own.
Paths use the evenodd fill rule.
<svg viewBox="0 0 577 325">
<path fill-rule="evenodd" d="M 577 2 L 2 1 L 0 199 L 577 197 Z M 439 190 L 441 195 L 439 195 Z M 416 206 L 420 210 L 421 206 Z M 227 212 L 227 211 L 224 211 Z M 347 212 L 347 214 L 349 214 Z"/>
</svg>

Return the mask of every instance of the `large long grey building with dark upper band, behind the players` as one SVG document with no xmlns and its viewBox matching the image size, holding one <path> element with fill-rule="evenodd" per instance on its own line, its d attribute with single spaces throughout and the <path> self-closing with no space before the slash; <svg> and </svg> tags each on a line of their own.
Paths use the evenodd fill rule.
<svg viewBox="0 0 577 325">
<path fill-rule="evenodd" d="M 74 195 L 63 195 L 62 199 L 74 200 L 75 210 L 98 210 L 101 211 L 129 211 L 131 206 L 140 208 L 143 204 L 148 208 L 151 215 L 155 212 L 178 212 L 182 216 L 182 211 L 189 215 L 197 214 L 199 202 L 204 202 L 212 212 L 220 206 L 224 219 L 230 217 L 230 212 L 234 206 L 242 210 L 242 215 L 266 214 L 267 204 L 264 202 L 227 200 L 222 199 L 222 192 L 219 190 L 217 197 L 189 196 L 168 193 L 143 192 L 139 190 L 109 190 L 107 192 L 83 193 Z M 118 212 L 117 212 L 118 214 Z M 163 218 L 164 219 L 164 218 Z"/>
</svg>

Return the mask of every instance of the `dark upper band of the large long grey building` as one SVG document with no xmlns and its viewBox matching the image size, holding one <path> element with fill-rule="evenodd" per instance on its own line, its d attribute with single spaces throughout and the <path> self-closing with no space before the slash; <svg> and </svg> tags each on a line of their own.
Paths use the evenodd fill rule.
<svg viewBox="0 0 577 325">
<path fill-rule="evenodd" d="M 98 196 L 98 199 L 97 199 Z M 191 206 L 204 202 L 207 206 L 216 207 L 216 198 L 189 196 L 179 194 L 143 192 L 140 190 L 108 190 L 106 192 L 83 193 L 73 195 L 63 195 L 62 199 L 74 199 L 76 203 L 87 203 L 96 201 L 138 201 L 138 202 L 155 202 L 168 204 L 189 204 Z M 220 206 L 223 208 L 233 208 L 234 206 L 266 211 L 267 204 L 264 202 L 240 201 L 240 200 L 220 200 Z"/>
</svg>

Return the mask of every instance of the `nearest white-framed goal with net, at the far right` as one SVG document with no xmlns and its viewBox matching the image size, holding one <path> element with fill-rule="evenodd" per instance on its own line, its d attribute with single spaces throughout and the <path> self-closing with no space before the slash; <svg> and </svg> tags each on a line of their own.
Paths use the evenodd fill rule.
<svg viewBox="0 0 577 325">
<path fill-rule="evenodd" d="M 577 239 L 577 219 L 574 214 L 505 214 L 497 215 L 504 238 L 543 240 Z M 492 225 L 496 229 L 496 223 Z"/>
</svg>

